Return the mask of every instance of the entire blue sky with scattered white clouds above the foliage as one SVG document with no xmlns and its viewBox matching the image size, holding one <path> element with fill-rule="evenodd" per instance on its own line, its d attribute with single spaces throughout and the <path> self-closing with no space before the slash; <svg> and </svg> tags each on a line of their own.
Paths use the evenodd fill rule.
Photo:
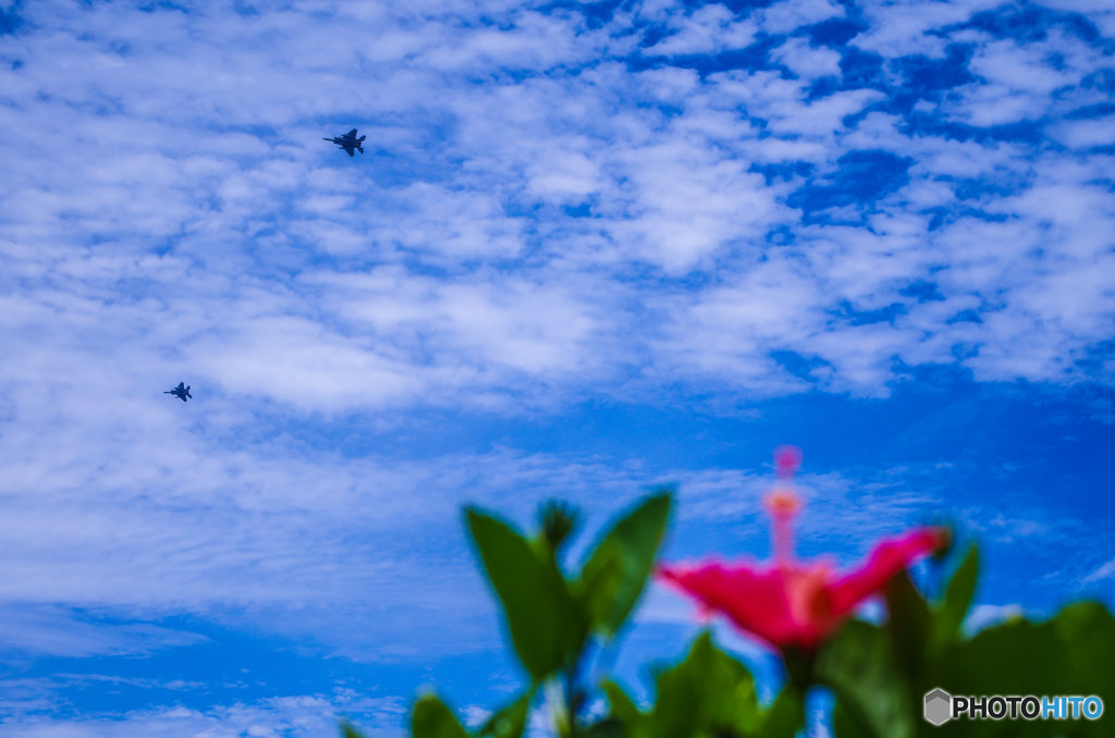
<svg viewBox="0 0 1115 738">
<path fill-rule="evenodd" d="M 787 443 L 806 554 L 1115 601 L 1108 1 L 0 11 L 0 736 L 477 720 L 462 504 L 673 483 L 668 556 L 762 557 Z"/>
</svg>

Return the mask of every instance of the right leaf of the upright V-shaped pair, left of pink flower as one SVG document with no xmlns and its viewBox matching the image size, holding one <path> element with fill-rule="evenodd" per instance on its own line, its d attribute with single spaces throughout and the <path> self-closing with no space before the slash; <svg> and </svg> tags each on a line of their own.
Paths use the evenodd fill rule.
<svg viewBox="0 0 1115 738">
<path fill-rule="evenodd" d="M 614 634 L 647 584 L 670 516 L 670 493 L 642 501 L 600 541 L 581 570 L 593 630 Z"/>
</svg>

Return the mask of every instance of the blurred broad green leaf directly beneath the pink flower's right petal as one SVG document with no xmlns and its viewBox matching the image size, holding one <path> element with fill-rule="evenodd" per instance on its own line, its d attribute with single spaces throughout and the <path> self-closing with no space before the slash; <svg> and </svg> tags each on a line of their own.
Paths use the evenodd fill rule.
<svg viewBox="0 0 1115 738">
<path fill-rule="evenodd" d="M 817 657 L 818 680 L 832 688 L 864 738 L 910 738 L 915 731 L 909 691 L 891 644 L 882 629 L 850 620 Z"/>
</svg>

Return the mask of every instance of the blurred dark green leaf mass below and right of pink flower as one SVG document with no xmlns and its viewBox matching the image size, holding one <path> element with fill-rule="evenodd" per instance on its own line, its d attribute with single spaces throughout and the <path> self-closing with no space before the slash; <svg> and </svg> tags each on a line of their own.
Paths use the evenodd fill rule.
<svg viewBox="0 0 1115 738">
<path fill-rule="evenodd" d="M 969 720 L 935 727 L 922 718 L 924 696 L 941 688 L 962 696 L 1094 695 L 1115 699 L 1115 618 L 1098 602 L 1065 606 L 1045 622 L 1015 616 L 975 635 L 963 631 L 979 574 L 971 546 L 929 602 L 906 574 L 886 588 L 886 621 L 850 621 L 817 660 L 817 681 L 836 695 L 835 738 L 1036 738 L 1115 736 L 1099 720 Z"/>
</svg>

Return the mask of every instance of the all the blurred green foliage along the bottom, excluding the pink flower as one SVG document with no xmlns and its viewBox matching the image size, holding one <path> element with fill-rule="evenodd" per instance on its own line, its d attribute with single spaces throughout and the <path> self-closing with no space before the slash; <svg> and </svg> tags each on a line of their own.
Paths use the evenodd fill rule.
<svg viewBox="0 0 1115 738">
<path fill-rule="evenodd" d="M 885 589 L 881 623 L 850 620 L 816 651 L 784 652 L 789 677 L 763 705 L 753 674 L 704 631 L 678 663 L 653 676 L 653 701 L 638 705 L 607 676 L 586 683 L 585 656 L 623 628 L 655 565 L 672 506 L 670 492 L 626 512 L 566 571 L 561 548 L 576 528 L 575 509 L 550 503 L 526 536 L 498 516 L 469 507 L 465 522 L 501 604 L 508 641 L 526 682 L 477 729 L 466 728 L 438 697 L 414 706 L 414 738 L 518 738 L 532 707 L 545 699 L 560 738 L 793 738 L 804 730 L 805 698 L 826 688 L 835 738 L 1099 738 L 1115 736 L 1115 717 L 1099 720 L 968 720 L 934 727 L 922 717 L 934 688 L 951 695 L 1095 695 L 1115 699 L 1115 618 L 1098 602 L 1077 602 L 1054 618 L 1016 616 L 971 635 L 964 622 L 979 577 L 970 546 L 935 601 L 903 572 Z M 544 697 L 543 697 L 544 696 Z M 602 711 L 586 716 L 593 697 Z M 361 738 L 348 725 L 345 738 Z"/>
</svg>

